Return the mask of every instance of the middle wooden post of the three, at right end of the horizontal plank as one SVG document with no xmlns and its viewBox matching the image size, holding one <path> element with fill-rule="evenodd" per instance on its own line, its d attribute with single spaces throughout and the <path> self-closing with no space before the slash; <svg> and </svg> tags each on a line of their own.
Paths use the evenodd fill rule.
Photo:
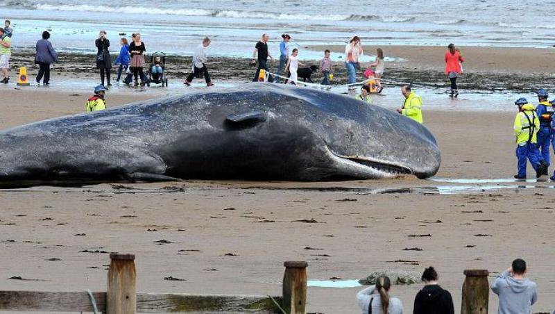
<svg viewBox="0 0 555 314">
<path fill-rule="evenodd" d="M 289 314 L 305 314 L 307 306 L 307 262 L 285 262 L 283 308 Z"/>
</svg>

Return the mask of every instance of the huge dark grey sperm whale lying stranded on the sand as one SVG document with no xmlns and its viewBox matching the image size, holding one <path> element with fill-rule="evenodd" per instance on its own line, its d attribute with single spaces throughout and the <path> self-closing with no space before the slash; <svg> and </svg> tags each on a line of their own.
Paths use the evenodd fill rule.
<svg viewBox="0 0 555 314">
<path fill-rule="evenodd" d="M 0 185 L 433 176 L 434 135 L 339 94 L 270 83 L 207 90 L 0 132 Z"/>
</svg>

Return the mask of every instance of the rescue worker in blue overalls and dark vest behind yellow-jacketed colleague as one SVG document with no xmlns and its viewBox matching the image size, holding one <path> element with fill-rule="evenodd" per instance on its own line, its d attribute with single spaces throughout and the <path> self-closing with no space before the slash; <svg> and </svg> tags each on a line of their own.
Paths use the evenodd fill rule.
<svg viewBox="0 0 555 314">
<path fill-rule="evenodd" d="M 540 152 L 540 163 L 545 167 L 547 175 L 547 168 L 549 167 L 549 145 L 552 142 L 553 132 L 551 131 L 551 119 L 553 116 L 553 108 L 549 101 L 547 101 L 547 90 L 540 88 L 538 90 L 538 101 L 540 104 L 536 106 L 536 114 L 540 118 L 540 129 L 538 130 L 538 152 Z"/>
</svg>

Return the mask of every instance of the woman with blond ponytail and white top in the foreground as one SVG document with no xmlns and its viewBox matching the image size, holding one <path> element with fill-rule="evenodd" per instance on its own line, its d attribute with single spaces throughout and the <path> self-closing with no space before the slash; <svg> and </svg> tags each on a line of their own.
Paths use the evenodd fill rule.
<svg viewBox="0 0 555 314">
<path fill-rule="evenodd" d="M 376 279 L 375 286 L 370 286 L 357 293 L 357 303 L 362 314 L 402 314 L 403 304 L 396 297 L 389 297 L 391 280 L 382 276 Z"/>
</svg>

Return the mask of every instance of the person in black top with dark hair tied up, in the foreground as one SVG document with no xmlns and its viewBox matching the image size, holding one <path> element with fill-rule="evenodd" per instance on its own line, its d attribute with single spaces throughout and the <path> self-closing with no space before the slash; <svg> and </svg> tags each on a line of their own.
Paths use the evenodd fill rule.
<svg viewBox="0 0 555 314">
<path fill-rule="evenodd" d="M 451 294 L 438 285 L 438 273 L 434 267 L 424 270 L 422 281 L 425 286 L 414 298 L 413 314 L 454 314 Z"/>
</svg>

